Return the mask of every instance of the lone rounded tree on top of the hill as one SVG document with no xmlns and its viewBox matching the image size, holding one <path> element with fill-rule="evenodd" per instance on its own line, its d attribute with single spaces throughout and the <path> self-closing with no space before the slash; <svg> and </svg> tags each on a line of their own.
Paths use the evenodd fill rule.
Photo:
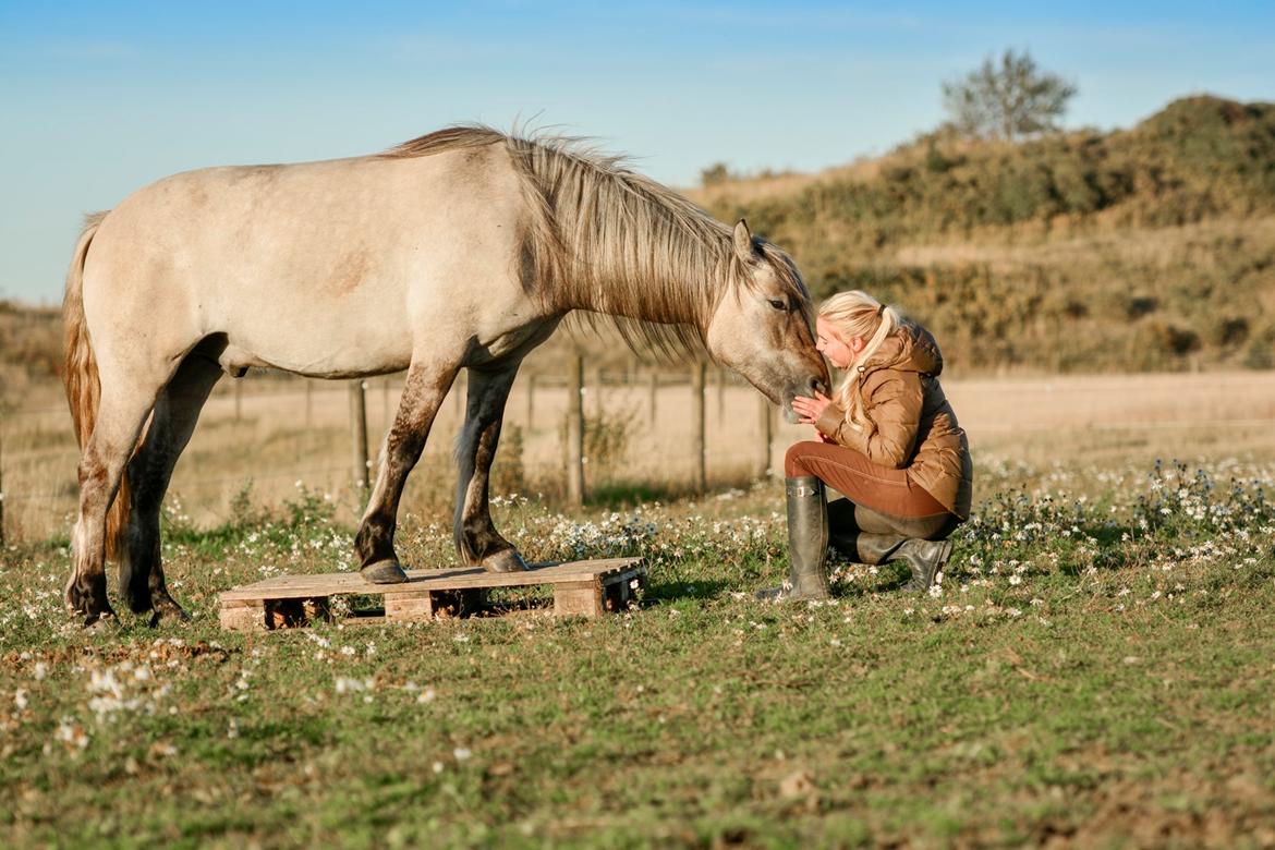
<svg viewBox="0 0 1275 850">
<path fill-rule="evenodd" d="M 956 129 L 973 138 L 1014 141 L 1056 130 L 1076 87 L 1042 71 L 1031 55 L 1006 50 L 964 78 L 943 83 L 943 107 Z"/>
</svg>

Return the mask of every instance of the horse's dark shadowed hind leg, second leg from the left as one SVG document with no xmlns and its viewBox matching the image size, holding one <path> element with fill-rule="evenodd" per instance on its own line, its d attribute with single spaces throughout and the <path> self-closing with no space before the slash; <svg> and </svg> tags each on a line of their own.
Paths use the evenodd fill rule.
<svg viewBox="0 0 1275 850">
<path fill-rule="evenodd" d="M 186 619 L 164 584 L 159 547 L 159 510 L 173 466 L 195 431 L 199 412 L 213 391 L 222 368 L 195 349 L 159 394 L 150 427 L 138 454 L 129 461 L 133 503 L 120 552 L 120 593 L 136 613 Z"/>
</svg>

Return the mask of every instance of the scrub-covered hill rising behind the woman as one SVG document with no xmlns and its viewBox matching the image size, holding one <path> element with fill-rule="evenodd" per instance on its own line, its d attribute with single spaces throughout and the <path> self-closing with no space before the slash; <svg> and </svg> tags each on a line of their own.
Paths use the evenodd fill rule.
<svg viewBox="0 0 1275 850">
<path fill-rule="evenodd" d="M 1275 104 L 1200 96 L 1130 130 L 923 135 L 871 163 L 691 192 L 862 288 L 952 367 L 1275 366 Z"/>
</svg>

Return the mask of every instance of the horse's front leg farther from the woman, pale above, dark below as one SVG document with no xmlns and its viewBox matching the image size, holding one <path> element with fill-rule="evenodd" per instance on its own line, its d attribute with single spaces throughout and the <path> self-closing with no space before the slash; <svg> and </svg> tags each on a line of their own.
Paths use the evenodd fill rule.
<svg viewBox="0 0 1275 850">
<path fill-rule="evenodd" d="M 421 459 L 433 417 L 455 377 L 454 366 L 430 370 L 413 366 L 408 370 L 398 413 L 381 447 L 376 486 L 354 535 L 360 568 L 368 581 L 388 584 L 405 580 L 394 552 L 399 500 L 407 474 Z"/>
</svg>

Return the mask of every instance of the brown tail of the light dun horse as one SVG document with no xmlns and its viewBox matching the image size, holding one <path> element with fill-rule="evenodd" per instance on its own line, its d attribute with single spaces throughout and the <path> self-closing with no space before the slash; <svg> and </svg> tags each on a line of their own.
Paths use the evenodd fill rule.
<svg viewBox="0 0 1275 850">
<path fill-rule="evenodd" d="M 93 342 L 89 339 L 88 324 L 84 321 L 84 259 L 88 256 L 89 243 L 103 218 L 106 218 L 106 213 L 93 213 L 84 218 L 84 229 L 80 232 L 79 242 L 75 243 L 71 268 L 66 270 L 66 293 L 62 296 L 62 322 L 66 331 L 62 345 L 65 352 L 62 385 L 66 387 L 66 401 L 70 404 L 71 422 L 75 424 L 75 440 L 82 451 L 93 435 L 102 399 L 97 357 L 93 354 Z M 120 479 L 120 492 L 106 516 L 106 553 L 108 557 L 113 558 L 119 554 L 120 535 L 127 524 L 131 501 L 129 475 L 125 470 Z"/>
</svg>

